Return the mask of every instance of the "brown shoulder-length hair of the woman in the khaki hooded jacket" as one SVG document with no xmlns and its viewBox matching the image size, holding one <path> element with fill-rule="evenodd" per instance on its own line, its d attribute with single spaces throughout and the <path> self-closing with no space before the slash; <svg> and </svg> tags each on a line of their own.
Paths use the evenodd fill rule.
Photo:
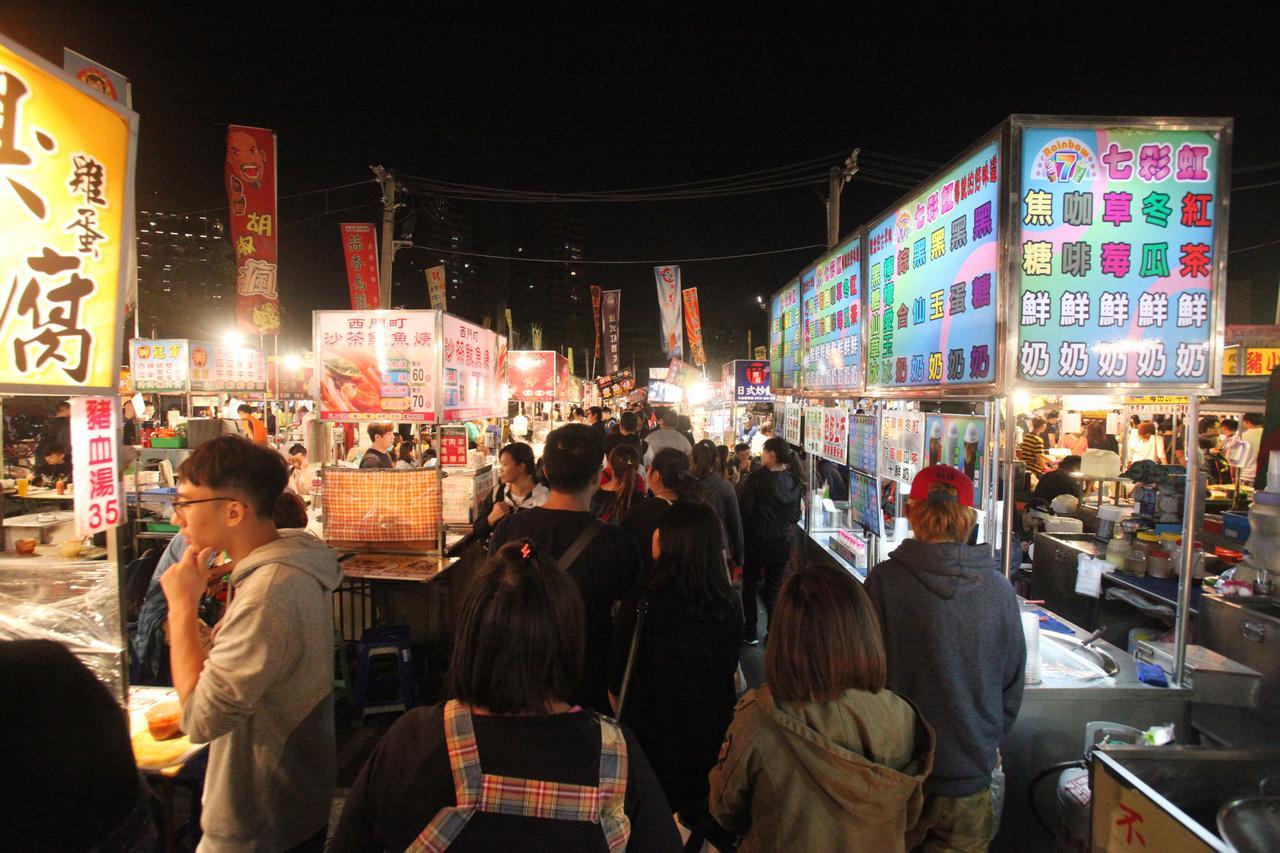
<svg viewBox="0 0 1280 853">
<path fill-rule="evenodd" d="M 884 642 L 863 585 L 833 566 L 791 575 L 773 606 L 764 680 L 774 699 L 827 702 L 884 686 Z"/>
</svg>

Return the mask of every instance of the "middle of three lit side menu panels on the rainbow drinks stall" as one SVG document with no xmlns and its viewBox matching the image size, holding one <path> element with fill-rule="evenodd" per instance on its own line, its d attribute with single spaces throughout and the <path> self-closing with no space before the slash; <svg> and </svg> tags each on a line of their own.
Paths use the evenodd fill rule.
<svg viewBox="0 0 1280 853">
<path fill-rule="evenodd" d="M 863 240 L 855 234 L 803 279 L 805 391 L 863 389 Z"/>
</svg>

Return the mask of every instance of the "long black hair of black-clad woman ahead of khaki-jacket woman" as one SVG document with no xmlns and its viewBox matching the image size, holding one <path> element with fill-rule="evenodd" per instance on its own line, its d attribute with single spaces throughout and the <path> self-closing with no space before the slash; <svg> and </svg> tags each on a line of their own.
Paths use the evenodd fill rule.
<svg viewBox="0 0 1280 853">
<path fill-rule="evenodd" d="M 658 548 L 646 589 L 671 589 L 689 615 L 719 617 L 737 610 L 716 510 L 695 501 L 677 501 L 658 524 Z"/>
</svg>

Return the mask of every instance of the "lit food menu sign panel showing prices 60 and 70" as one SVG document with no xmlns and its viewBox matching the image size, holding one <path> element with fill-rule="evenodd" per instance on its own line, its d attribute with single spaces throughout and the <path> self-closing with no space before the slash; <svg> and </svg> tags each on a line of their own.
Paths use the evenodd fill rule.
<svg viewBox="0 0 1280 853">
<path fill-rule="evenodd" d="M 320 420 L 435 421 L 435 311 L 312 311 Z"/>
</svg>

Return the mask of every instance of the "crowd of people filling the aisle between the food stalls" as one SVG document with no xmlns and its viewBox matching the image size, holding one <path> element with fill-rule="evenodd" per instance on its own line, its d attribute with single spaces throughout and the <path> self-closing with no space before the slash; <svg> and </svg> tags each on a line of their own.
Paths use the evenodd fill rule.
<svg viewBox="0 0 1280 853">
<path fill-rule="evenodd" d="M 182 729 L 210 744 L 202 850 L 986 848 L 1024 649 L 1012 589 L 965 544 L 972 482 L 923 470 L 915 535 L 864 588 L 797 567 L 783 439 L 756 457 L 634 414 L 589 412 L 541 459 L 500 448 L 443 701 L 392 725 L 328 839 L 337 553 L 289 528 L 274 450 L 223 437 L 183 462 L 155 585 Z M 745 695 L 744 642 L 765 644 Z"/>
</svg>

